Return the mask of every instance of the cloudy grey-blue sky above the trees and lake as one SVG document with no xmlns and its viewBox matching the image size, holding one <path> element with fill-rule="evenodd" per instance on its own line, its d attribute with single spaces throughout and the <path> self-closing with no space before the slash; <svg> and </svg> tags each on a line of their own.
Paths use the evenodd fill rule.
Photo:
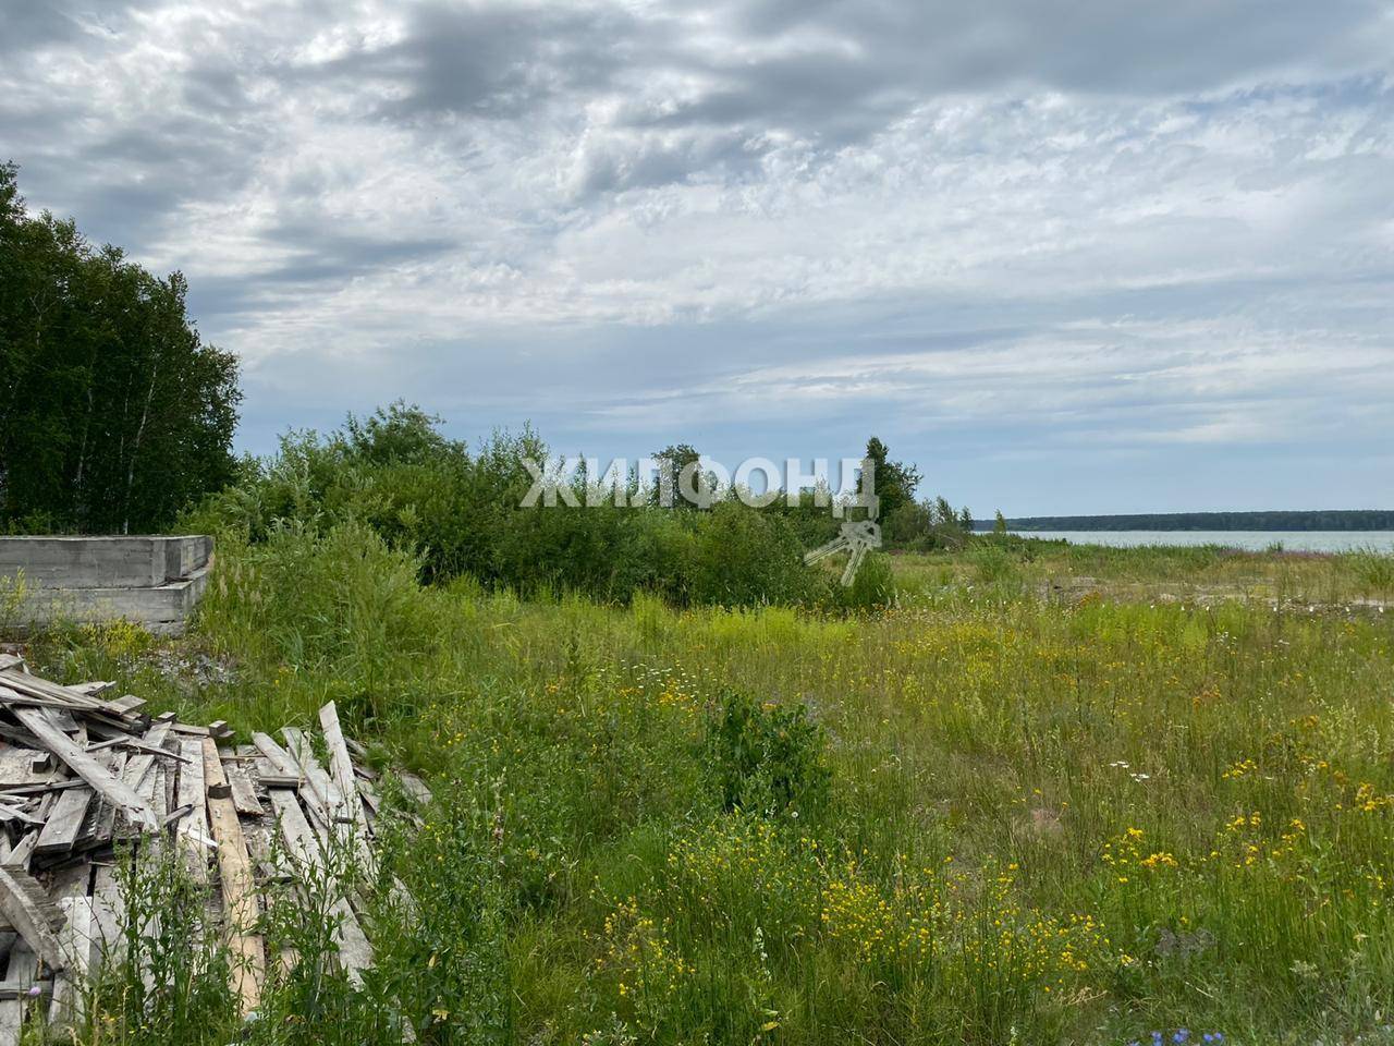
<svg viewBox="0 0 1394 1046">
<path fill-rule="evenodd" d="M 917 462 L 1394 508 L 1394 4 L 0 0 L 0 160 L 190 280 L 240 449 Z"/>
</svg>

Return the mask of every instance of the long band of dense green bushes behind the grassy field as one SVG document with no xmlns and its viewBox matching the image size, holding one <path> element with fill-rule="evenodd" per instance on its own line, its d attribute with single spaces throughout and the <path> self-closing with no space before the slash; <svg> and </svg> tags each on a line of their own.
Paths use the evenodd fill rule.
<svg viewBox="0 0 1394 1046">
<path fill-rule="evenodd" d="M 867 580 L 850 591 L 825 569 L 804 566 L 803 554 L 838 533 L 829 508 L 814 506 L 811 494 L 793 506 L 781 499 L 756 509 L 726 490 L 705 509 L 672 510 L 652 495 L 645 501 L 636 478 L 627 501 L 637 505 L 585 505 L 580 476 L 572 485 L 579 506 L 524 506 L 533 485 L 524 463 L 546 456 L 531 430 L 496 434 L 471 452 L 445 437 L 436 418 L 396 403 L 368 418 L 350 417 L 329 435 L 287 435 L 275 457 L 248 462 L 243 480 L 184 526 L 254 545 L 287 527 L 326 534 L 365 526 L 417 556 L 427 582 L 468 576 L 524 596 L 576 591 L 627 602 L 648 593 L 675 605 L 843 608 L 889 598 L 884 562 L 868 565 Z M 658 456 L 676 467 L 697 460 L 689 446 Z M 947 502 L 947 522 L 935 522 L 933 508 L 910 499 L 907 466 L 887 470 L 896 506 L 889 534 L 914 547 L 933 547 L 935 534 L 967 540 Z"/>
</svg>

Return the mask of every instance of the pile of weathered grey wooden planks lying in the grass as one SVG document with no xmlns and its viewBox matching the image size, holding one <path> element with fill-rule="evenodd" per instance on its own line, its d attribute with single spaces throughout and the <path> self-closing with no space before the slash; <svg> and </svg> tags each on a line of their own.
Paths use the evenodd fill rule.
<svg viewBox="0 0 1394 1046">
<path fill-rule="evenodd" d="M 151 717 L 109 690 L 60 686 L 0 654 L 0 1046 L 18 1042 L 32 1007 L 81 1021 L 81 986 L 123 940 L 118 851 L 141 859 L 171 847 L 209 886 L 244 1014 L 265 980 L 262 884 L 325 870 L 335 847 L 372 869 L 375 775 L 355 763 L 362 749 L 333 703 L 319 711 L 322 746 L 294 727 L 234 746 L 224 722 Z M 428 798 L 417 778 L 401 781 Z M 339 961 L 358 982 L 371 944 L 347 900 L 335 914 Z"/>
</svg>

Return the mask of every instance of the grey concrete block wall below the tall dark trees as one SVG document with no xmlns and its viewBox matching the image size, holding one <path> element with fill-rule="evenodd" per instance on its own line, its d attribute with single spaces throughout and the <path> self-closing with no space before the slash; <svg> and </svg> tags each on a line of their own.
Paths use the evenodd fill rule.
<svg viewBox="0 0 1394 1046">
<path fill-rule="evenodd" d="M 18 625 L 125 618 L 180 632 L 212 559 L 206 536 L 0 537 L 0 579 L 24 580 Z"/>
</svg>

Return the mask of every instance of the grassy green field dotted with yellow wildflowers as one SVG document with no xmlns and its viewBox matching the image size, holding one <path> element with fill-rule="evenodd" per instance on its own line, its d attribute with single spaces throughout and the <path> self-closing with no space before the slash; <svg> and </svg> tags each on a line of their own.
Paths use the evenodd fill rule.
<svg viewBox="0 0 1394 1046">
<path fill-rule="evenodd" d="M 1387 558 L 894 565 L 880 612 L 679 611 L 286 530 L 184 640 L 29 653 L 241 729 L 335 699 L 429 775 L 367 990 L 284 973 L 248 1042 L 1394 1042 Z M 230 1042 L 216 955 L 167 967 L 84 1042 Z"/>
</svg>

